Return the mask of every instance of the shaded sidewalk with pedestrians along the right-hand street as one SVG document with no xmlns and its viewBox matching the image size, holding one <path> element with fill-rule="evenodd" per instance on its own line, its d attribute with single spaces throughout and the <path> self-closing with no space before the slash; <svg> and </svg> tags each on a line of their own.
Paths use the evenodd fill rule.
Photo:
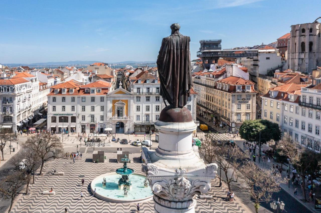
<svg viewBox="0 0 321 213">
<path fill-rule="evenodd" d="M 253 158 L 251 157 L 252 154 L 249 154 L 248 151 L 247 151 L 247 147 L 243 147 L 243 141 L 244 140 L 241 140 L 241 141 L 236 141 L 237 145 L 241 148 L 241 150 L 243 150 L 245 153 L 247 153 L 249 155 L 249 157 L 251 158 L 251 160 L 253 160 Z M 254 144 L 253 144 L 254 145 Z M 267 146 L 267 145 L 263 145 L 261 147 L 261 151 L 263 150 L 267 150 L 267 149 L 271 149 L 271 147 Z M 276 166 L 276 165 L 279 165 L 279 167 L 281 167 L 281 164 L 280 163 L 277 163 L 274 161 L 273 158 L 271 158 L 271 162 L 267 162 L 267 158 L 265 159 L 265 162 L 263 162 L 263 159 L 261 159 L 261 162 L 259 163 L 258 162 L 258 153 L 259 153 L 259 148 L 258 146 L 256 147 L 256 156 L 257 156 L 257 159 L 256 159 L 256 162 L 255 164 L 262 168 L 262 169 L 267 169 L 267 170 L 270 170 L 273 166 L 273 164 Z M 282 170 L 282 177 L 287 177 L 287 174 L 286 174 L 286 171 L 287 171 L 287 168 L 288 168 L 288 165 L 284 166 L 285 164 L 283 164 L 283 170 Z M 291 169 L 292 170 L 292 169 Z M 292 177 L 292 173 L 291 173 L 291 177 Z M 289 188 L 289 184 L 288 183 L 285 183 L 285 184 L 280 184 L 280 187 L 286 191 L 289 195 L 291 195 L 294 199 L 298 200 L 300 203 L 302 203 L 305 207 L 307 207 L 308 209 L 310 209 L 311 211 L 315 211 L 314 209 L 314 202 L 302 202 L 301 199 L 304 199 L 303 195 L 302 195 L 302 189 L 301 189 L 301 186 L 298 185 L 297 188 L 298 188 L 298 195 L 294 195 L 294 188 L 296 186 L 292 185 L 291 181 L 290 181 L 290 188 Z M 308 188 L 306 189 L 306 193 L 307 193 L 307 198 L 309 197 L 308 196 L 308 193 L 309 193 L 309 190 Z M 318 196 L 316 194 L 316 196 Z"/>
</svg>

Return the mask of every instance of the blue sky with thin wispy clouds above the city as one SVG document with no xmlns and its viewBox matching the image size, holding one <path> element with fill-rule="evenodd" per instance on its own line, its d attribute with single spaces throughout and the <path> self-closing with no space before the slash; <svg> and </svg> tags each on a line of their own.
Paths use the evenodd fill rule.
<svg viewBox="0 0 321 213">
<path fill-rule="evenodd" d="M 222 48 L 271 43 L 290 26 L 321 16 L 320 1 L 135 0 L 2 1 L 0 63 L 154 61 L 170 24 Z"/>
</svg>

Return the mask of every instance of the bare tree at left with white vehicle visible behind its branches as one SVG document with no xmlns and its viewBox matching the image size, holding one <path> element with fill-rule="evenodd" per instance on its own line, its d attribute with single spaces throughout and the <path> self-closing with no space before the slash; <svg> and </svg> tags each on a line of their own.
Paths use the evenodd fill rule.
<svg viewBox="0 0 321 213">
<path fill-rule="evenodd" d="M 32 150 L 25 148 L 18 154 L 13 155 L 13 157 L 10 159 L 10 163 L 26 173 L 28 180 L 26 182 L 26 194 L 28 194 L 31 174 L 34 172 L 34 170 L 39 168 L 41 165 L 41 159 L 38 155 L 34 154 Z"/>
</svg>

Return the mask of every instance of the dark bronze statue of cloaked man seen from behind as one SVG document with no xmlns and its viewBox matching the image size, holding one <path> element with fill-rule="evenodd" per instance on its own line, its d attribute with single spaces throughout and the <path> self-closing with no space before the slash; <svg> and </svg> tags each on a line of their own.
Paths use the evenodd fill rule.
<svg viewBox="0 0 321 213">
<path fill-rule="evenodd" d="M 163 38 L 157 68 L 160 78 L 160 95 L 174 108 L 183 108 L 193 85 L 189 36 L 179 33 L 179 24 L 170 26 L 172 33 Z"/>
</svg>

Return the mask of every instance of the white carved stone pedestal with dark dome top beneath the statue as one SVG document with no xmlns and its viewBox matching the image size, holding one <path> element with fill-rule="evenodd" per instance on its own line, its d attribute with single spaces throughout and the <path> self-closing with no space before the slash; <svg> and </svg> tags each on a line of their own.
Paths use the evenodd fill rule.
<svg viewBox="0 0 321 213">
<path fill-rule="evenodd" d="M 186 108 L 166 107 L 155 127 L 159 131 L 158 148 L 142 147 L 143 171 L 154 193 L 155 212 L 193 213 L 194 197 L 211 188 L 217 165 L 206 165 L 192 148 L 196 124 Z"/>
</svg>

